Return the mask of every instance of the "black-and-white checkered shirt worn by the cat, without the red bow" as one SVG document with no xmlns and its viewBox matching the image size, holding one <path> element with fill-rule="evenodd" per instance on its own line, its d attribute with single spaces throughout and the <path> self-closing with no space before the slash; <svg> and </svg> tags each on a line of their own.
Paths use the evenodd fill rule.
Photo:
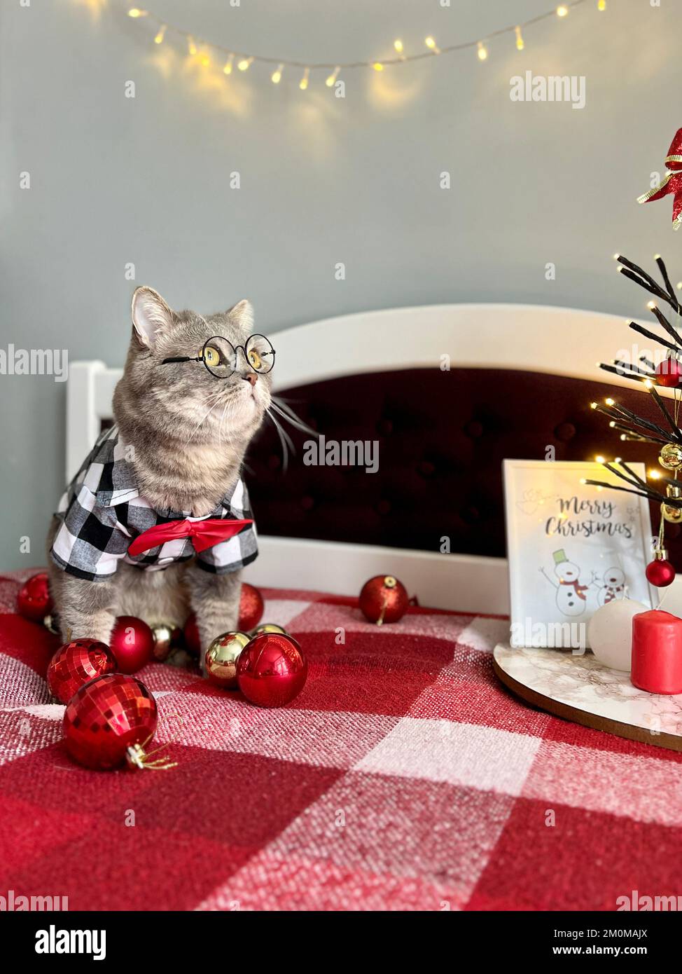
<svg viewBox="0 0 682 974">
<path fill-rule="evenodd" d="M 183 519 L 202 521 L 209 517 L 243 520 L 252 515 L 241 479 L 205 517 L 192 517 L 186 511 L 155 510 L 140 497 L 126 453 L 118 427 L 104 431 L 66 489 L 56 511 L 61 524 L 50 552 L 59 568 L 78 579 L 104 581 L 116 572 L 122 559 L 146 571 L 159 571 L 176 562 L 196 558 L 200 568 L 225 575 L 256 558 L 255 525 L 198 554 L 190 538 L 164 542 L 138 555 L 128 554 L 133 539 L 157 524 Z"/>
</svg>

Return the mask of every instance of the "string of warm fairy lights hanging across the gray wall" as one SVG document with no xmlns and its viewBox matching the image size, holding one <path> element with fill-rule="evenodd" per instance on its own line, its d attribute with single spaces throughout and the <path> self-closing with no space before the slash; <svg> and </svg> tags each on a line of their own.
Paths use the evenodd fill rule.
<svg viewBox="0 0 682 974">
<path fill-rule="evenodd" d="M 298 85 L 302 92 L 308 88 L 311 75 L 324 73 L 324 83 L 327 88 L 333 88 L 339 76 L 344 71 L 354 71 L 367 69 L 371 71 L 383 71 L 386 68 L 400 67 L 401 65 L 413 61 L 424 60 L 434 56 L 444 56 L 454 54 L 459 51 L 473 50 L 480 61 L 488 58 L 488 45 L 496 38 L 510 35 L 514 39 L 517 51 L 525 48 L 525 38 L 523 31 L 526 28 L 540 23 L 547 19 L 565 19 L 576 7 L 592 3 L 594 8 L 603 13 L 606 10 L 606 0 L 572 0 L 571 3 L 562 3 L 544 14 L 539 14 L 528 20 L 502 27 L 500 30 L 492 31 L 485 37 L 473 41 L 464 41 L 461 44 L 440 45 L 436 38 L 429 34 L 423 39 L 423 48 L 408 53 L 406 44 L 401 38 L 393 41 L 393 54 L 389 57 L 377 57 L 370 60 L 340 61 L 318 61 L 306 62 L 301 60 L 291 60 L 286 57 L 264 56 L 250 54 L 248 52 L 231 50 L 222 44 L 215 44 L 212 41 L 204 40 L 196 34 L 185 30 L 176 24 L 170 23 L 154 14 L 152 11 L 144 10 L 141 7 L 130 7 L 127 11 L 128 17 L 141 22 L 148 21 L 154 24 L 155 34 L 154 43 L 162 45 L 168 43 L 172 38 L 179 41 L 187 50 L 187 54 L 198 59 L 204 67 L 212 65 L 222 65 L 223 73 L 230 76 L 234 68 L 237 71 L 248 71 L 252 64 L 263 64 L 271 69 L 270 81 L 273 85 L 279 85 L 287 70 L 296 73 Z"/>
</svg>

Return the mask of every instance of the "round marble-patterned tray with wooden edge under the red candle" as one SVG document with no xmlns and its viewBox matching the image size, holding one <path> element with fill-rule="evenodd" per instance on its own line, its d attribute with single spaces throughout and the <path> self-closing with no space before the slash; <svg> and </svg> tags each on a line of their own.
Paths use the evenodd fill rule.
<svg viewBox="0 0 682 974">
<path fill-rule="evenodd" d="M 609 669 L 588 650 L 512 649 L 498 643 L 495 673 L 522 699 L 597 731 L 682 751 L 682 693 L 645 693 L 629 673 Z"/>
</svg>

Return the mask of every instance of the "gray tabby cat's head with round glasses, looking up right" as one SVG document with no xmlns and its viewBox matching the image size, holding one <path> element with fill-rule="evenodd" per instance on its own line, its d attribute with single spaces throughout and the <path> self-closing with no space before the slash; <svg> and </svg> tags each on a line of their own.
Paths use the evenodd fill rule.
<svg viewBox="0 0 682 974">
<path fill-rule="evenodd" d="M 255 372 L 242 349 L 237 349 L 232 374 L 229 368 L 217 369 L 227 378 L 216 377 L 202 361 L 163 362 L 197 358 L 215 336 L 234 348 L 245 346 L 254 330 L 247 301 L 204 318 L 192 311 L 173 312 L 156 291 L 138 287 L 132 324 L 126 384 L 135 393 L 137 410 L 144 410 L 153 426 L 188 444 L 233 442 L 238 448 L 251 438 L 269 407 L 270 373 Z"/>
</svg>

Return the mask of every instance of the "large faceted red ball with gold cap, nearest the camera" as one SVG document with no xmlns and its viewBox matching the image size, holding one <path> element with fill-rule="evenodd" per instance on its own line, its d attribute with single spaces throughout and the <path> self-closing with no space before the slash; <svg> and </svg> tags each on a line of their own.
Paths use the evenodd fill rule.
<svg viewBox="0 0 682 974">
<path fill-rule="evenodd" d="M 127 749 L 144 745 L 157 730 L 157 703 L 143 683 L 125 673 L 95 677 L 69 700 L 64 743 L 86 768 L 119 768 Z"/>
</svg>

